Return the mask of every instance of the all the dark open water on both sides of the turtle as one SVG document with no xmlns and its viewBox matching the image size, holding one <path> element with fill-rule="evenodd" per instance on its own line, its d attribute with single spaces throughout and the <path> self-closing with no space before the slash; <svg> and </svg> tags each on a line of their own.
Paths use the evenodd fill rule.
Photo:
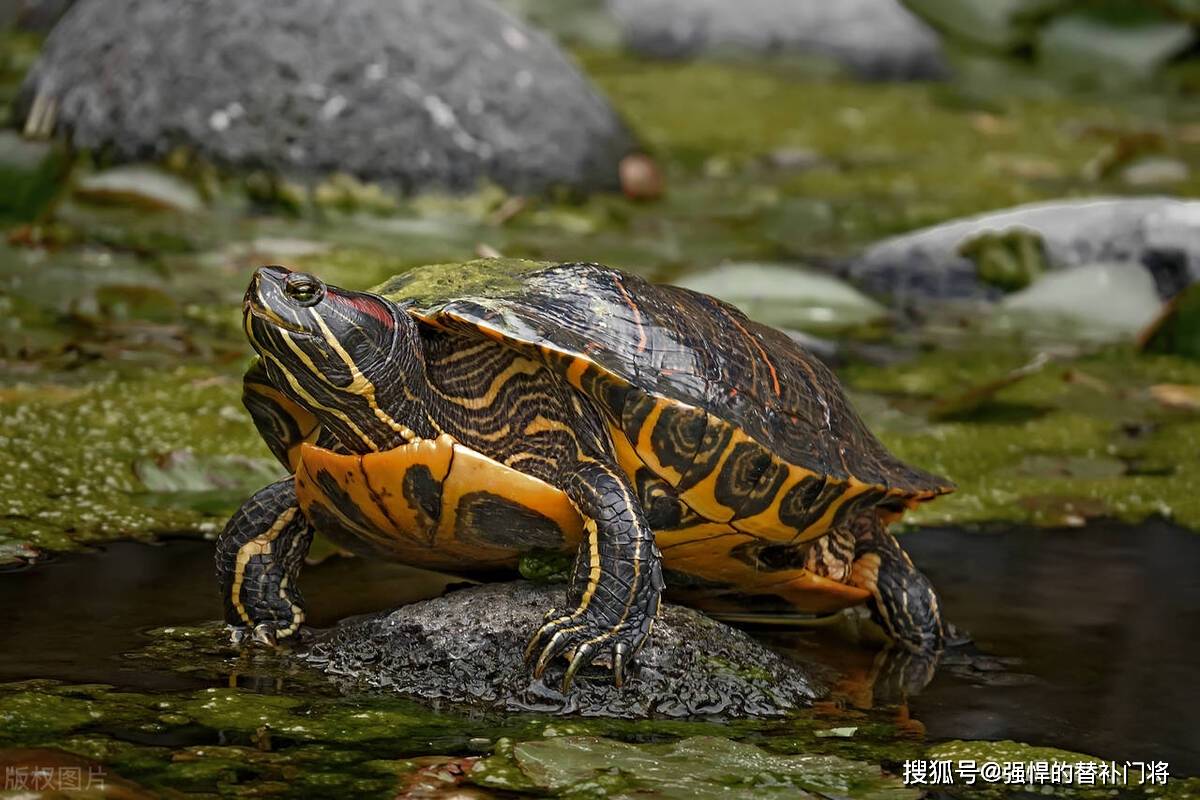
<svg viewBox="0 0 1200 800">
<path fill-rule="evenodd" d="M 1078 530 L 923 530 L 905 546 L 973 646 L 910 698 L 931 740 L 1015 739 L 1200 774 L 1200 536 L 1166 523 Z M 133 670 L 144 631 L 220 616 L 211 543 L 114 543 L 0 575 L 0 680 L 58 678 L 144 690 L 197 679 Z M 314 625 L 439 594 L 445 578 L 332 559 L 310 567 Z M 811 632 L 762 632 L 834 666 L 869 654 Z"/>
</svg>

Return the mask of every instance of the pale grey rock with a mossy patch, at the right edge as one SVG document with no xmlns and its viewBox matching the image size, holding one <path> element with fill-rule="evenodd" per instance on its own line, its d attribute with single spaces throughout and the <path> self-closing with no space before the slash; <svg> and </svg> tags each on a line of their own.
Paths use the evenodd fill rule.
<svg viewBox="0 0 1200 800">
<path fill-rule="evenodd" d="M 1046 267 L 1126 263 L 1150 270 L 1162 297 L 1200 279 L 1200 203 L 1172 198 L 1092 198 L 1021 205 L 884 240 L 842 265 L 866 291 L 896 305 L 922 300 L 996 300 L 961 254 L 980 235 L 1027 231 Z"/>
</svg>

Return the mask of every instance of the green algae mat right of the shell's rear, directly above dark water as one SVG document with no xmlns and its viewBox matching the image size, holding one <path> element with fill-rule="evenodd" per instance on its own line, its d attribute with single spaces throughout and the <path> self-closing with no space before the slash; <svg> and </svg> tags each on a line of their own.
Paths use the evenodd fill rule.
<svg viewBox="0 0 1200 800">
<path fill-rule="evenodd" d="M 1052 362 L 998 389 L 959 419 L 930 419 L 938 401 L 1007 374 L 1025 351 L 940 351 L 880 369 L 846 371 L 868 419 L 906 461 L 955 481 L 955 494 L 919 507 L 914 524 L 1082 524 L 1087 517 L 1169 517 L 1200 528 L 1194 456 L 1200 416 L 1163 407 L 1156 384 L 1200 384 L 1194 362 L 1128 349 Z M 871 413 L 874 410 L 874 413 Z"/>
</svg>

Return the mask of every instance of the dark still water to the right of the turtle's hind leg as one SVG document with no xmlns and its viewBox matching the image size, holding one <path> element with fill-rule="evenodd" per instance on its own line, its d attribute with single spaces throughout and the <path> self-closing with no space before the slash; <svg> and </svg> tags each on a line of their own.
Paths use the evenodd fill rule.
<svg viewBox="0 0 1200 800">
<path fill-rule="evenodd" d="M 911 700 L 932 738 L 1016 739 L 1200 774 L 1200 535 L 1138 528 L 904 539 L 982 652 Z M 1015 660 L 1015 661 L 1013 661 Z"/>
</svg>

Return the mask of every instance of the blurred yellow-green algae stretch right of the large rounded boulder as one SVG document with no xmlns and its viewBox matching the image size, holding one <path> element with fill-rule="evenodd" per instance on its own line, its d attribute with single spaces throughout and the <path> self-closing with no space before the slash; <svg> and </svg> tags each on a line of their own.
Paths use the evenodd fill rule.
<svg viewBox="0 0 1200 800">
<path fill-rule="evenodd" d="M 983 109 L 930 84 L 798 79 L 784 67 L 631 61 L 604 53 L 582 59 L 648 146 L 676 168 L 671 188 L 695 203 L 695 184 L 720 160 L 727 192 L 775 188 L 778 199 L 762 216 L 768 224 L 778 219 L 770 230 L 799 252 L 1018 203 L 1120 191 L 1116 184 L 1097 186 L 1085 167 L 1122 131 L 1146 125 L 1142 113 L 1111 102 L 1009 96 Z M 1176 146 L 1175 136 L 1166 130 L 1180 155 L 1195 157 L 1196 146 Z M 788 172 L 763 164 L 787 150 L 815 152 L 824 166 Z M 1178 191 L 1200 192 L 1200 175 Z M 834 210 L 816 230 L 804 213 L 814 200 Z M 684 201 L 668 190 L 667 204 Z M 800 217 L 810 224 L 792 224 Z"/>
</svg>

